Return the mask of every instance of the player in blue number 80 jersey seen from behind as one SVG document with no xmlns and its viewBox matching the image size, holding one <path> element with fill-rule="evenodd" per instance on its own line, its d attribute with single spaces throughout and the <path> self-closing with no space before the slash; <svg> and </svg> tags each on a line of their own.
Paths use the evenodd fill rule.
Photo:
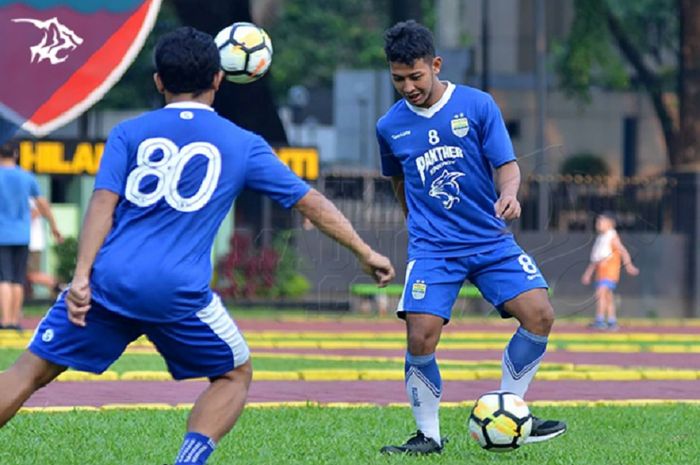
<svg viewBox="0 0 700 465">
<path fill-rule="evenodd" d="M 261 137 L 212 110 L 223 73 L 211 36 L 177 29 L 159 41 L 155 63 L 166 106 L 109 135 L 70 289 L 0 374 L 0 426 L 66 367 L 101 373 L 145 334 L 173 378 L 211 381 L 175 460 L 204 464 L 238 419 L 252 374 L 248 346 L 209 288 L 214 236 L 236 196 L 249 188 L 295 207 L 380 286 L 394 270 Z"/>
</svg>

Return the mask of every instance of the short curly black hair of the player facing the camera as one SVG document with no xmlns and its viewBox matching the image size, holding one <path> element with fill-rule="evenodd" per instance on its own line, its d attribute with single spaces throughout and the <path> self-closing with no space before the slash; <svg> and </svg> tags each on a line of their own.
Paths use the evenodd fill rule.
<svg viewBox="0 0 700 465">
<path fill-rule="evenodd" d="M 412 65 L 421 58 L 432 59 L 433 33 L 412 19 L 396 23 L 384 33 L 384 53 L 390 63 Z"/>
</svg>

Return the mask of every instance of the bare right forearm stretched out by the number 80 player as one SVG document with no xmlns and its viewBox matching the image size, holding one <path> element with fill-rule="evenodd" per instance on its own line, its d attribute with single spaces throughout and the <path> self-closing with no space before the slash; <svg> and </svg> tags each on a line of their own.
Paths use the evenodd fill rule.
<svg viewBox="0 0 700 465">
<path fill-rule="evenodd" d="M 384 287 L 396 273 L 388 258 L 375 252 L 357 234 L 345 215 L 316 189 L 311 189 L 294 207 L 325 235 L 355 254 L 362 270 Z"/>
</svg>

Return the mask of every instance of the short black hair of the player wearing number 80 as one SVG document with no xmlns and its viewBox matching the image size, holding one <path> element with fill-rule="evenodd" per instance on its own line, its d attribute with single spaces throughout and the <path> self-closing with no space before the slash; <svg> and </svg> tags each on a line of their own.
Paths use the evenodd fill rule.
<svg viewBox="0 0 700 465">
<path fill-rule="evenodd" d="M 199 94 L 211 89 L 214 75 L 221 69 L 214 38 L 189 26 L 163 35 L 153 57 L 163 85 L 173 94 Z"/>
</svg>

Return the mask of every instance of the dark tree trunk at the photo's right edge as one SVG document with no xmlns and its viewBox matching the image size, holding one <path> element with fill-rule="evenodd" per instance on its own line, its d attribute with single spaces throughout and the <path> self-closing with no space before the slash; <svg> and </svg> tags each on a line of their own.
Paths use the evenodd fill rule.
<svg viewBox="0 0 700 465">
<path fill-rule="evenodd" d="M 680 132 L 677 166 L 700 168 L 700 2 L 680 0 Z"/>
</svg>

